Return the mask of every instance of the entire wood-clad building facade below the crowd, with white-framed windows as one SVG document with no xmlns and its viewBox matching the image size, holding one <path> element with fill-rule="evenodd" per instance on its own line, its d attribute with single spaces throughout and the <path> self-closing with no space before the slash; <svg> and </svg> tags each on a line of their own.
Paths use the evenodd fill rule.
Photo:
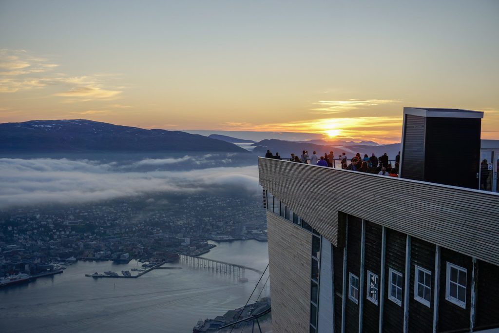
<svg viewBox="0 0 499 333">
<path fill-rule="evenodd" d="M 273 332 L 499 327 L 499 194 L 259 158 Z"/>
</svg>

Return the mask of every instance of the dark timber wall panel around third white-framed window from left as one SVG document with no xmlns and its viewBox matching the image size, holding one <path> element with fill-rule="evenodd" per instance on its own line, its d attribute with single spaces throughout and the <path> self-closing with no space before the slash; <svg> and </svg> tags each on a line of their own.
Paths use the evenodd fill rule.
<svg viewBox="0 0 499 333">
<path fill-rule="evenodd" d="M 404 331 L 404 298 L 402 284 L 402 306 L 388 299 L 389 269 L 402 273 L 405 282 L 405 250 L 407 236 L 395 230 L 386 231 L 386 259 L 385 259 L 385 296 L 383 309 L 383 332 L 400 333 Z"/>
</svg>

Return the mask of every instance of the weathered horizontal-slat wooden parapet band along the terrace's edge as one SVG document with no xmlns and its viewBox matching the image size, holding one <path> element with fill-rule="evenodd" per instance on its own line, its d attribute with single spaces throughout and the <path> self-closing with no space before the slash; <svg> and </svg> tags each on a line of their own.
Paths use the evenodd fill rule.
<svg viewBox="0 0 499 333">
<path fill-rule="evenodd" d="M 267 158 L 258 170 L 260 185 L 334 246 L 344 212 L 499 265 L 496 193 Z"/>
</svg>

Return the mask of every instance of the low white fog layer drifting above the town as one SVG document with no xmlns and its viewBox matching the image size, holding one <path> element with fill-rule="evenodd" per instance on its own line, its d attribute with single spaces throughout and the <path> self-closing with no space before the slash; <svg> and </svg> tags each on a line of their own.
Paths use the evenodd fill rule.
<svg viewBox="0 0 499 333">
<path fill-rule="evenodd" d="M 129 164 L 92 160 L 0 158 L 0 208 L 81 203 L 146 193 L 247 193 L 259 195 L 257 166 L 181 171 L 172 165 L 203 164 L 213 156 L 143 159 Z M 230 165 L 230 159 L 219 159 Z M 211 163 L 207 162 L 211 166 Z M 154 170 L 143 171 L 148 166 Z M 170 169 L 168 169 L 170 168 Z"/>
</svg>

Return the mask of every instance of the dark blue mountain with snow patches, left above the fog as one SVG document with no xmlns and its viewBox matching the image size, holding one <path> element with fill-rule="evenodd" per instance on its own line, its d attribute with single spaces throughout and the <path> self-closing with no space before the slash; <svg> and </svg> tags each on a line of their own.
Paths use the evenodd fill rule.
<svg viewBox="0 0 499 333">
<path fill-rule="evenodd" d="M 84 119 L 0 124 L 0 152 L 248 152 L 198 134 L 119 126 Z"/>
</svg>

